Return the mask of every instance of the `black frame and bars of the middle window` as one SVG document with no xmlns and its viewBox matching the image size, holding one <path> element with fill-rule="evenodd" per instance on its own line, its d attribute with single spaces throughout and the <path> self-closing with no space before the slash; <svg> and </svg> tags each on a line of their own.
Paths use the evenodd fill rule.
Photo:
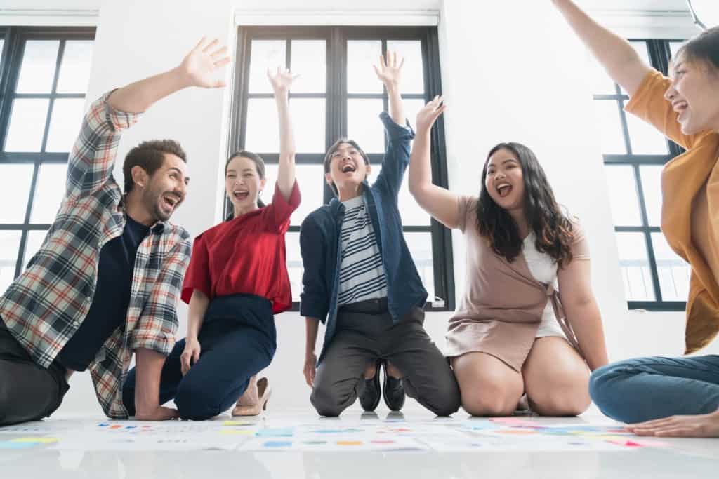
<svg viewBox="0 0 719 479">
<path fill-rule="evenodd" d="M 441 95 L 441 74 L 439 63 L 439 37 L 436 27 L 257 27 L 239 26 L 237 31 L 237 64 L 234 72 L 232 109 L 229 121 L 229 142 L 227 155 L 244 149 L 247 118 L 247 103 L 252 98 L 273 98 L 272 93 L 249 95 L 249 62 L 252 39 L 285 39 L 287 49 L 286 62 L 290 65 L 291 42 L 293 39 L 325 39 L 326 40 L 326 114 L 325 114 L 325 151 L 338 138 L 347 136 L 347 98 L 379 98 L 379 94 L 347 94 L 347 40 L 374 39 L 382 40 L 383 54 L 387 50 L 387 42 L 393 40 L 421 40 L 424 67 L 424 95 L 404 94 L 402 98 L 423 98 L 429 101 Z M 383 91 L 384 107 L 388 108 L 386 90 Z M 312 94 L 291 93 L 290 98 L 313 98 Z M 277 164 L 278 154 L 262 155 L 267 164 Z M 368 154 L 372 164 L 380 164 L 383 154 Z M 297 154 L 297 164 L 322 164 L 324 153 Z M 431 169 L 435 185 L 448 186 L 446 167 L 446 143 L 444 137 L 444 121 L 440 117 L 431 131 Z M 329 203 L 333 193 L 329 186 L 324 185 L 324 204 Z M 231 211 L 232 203 L 224 202 L 223 215 Z M 290 232 L 298 232 L 298 225 L 290 225 Z M 404 226 L 405 233 L 431 233 L 432 262 L 434 271 L 434 295 L 444 300 L 444 305 L 435 307 L 434 298 L 428 298 L 425 305 L 427 311 L 453 311 L 454 297 L 454 264 L 452 254 L 452 232 L 438 221 L 431 219 L 427 226 Z M 293 302 L 291 311 L 298 311 L 299 303 Z"/>
</svg>

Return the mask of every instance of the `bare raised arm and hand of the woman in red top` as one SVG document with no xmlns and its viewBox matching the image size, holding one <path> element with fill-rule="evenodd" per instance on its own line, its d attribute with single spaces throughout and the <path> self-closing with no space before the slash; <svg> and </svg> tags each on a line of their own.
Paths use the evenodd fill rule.
<svg viewBox="0 0 719 479">
<path fill-rule="evenodd" d="M 292 76 L 289 70 L 277 69 L 274 75 L 267 71 L 272 88 L 275 91 L 275 104 L 280 120 L 280 166 L 278 167 L 277 185 L 285 200 L 290 199 L 295 185 L 295 132 L 290 118 L 289 93 L 292 82 L 299 75 Z"/>
</svg>

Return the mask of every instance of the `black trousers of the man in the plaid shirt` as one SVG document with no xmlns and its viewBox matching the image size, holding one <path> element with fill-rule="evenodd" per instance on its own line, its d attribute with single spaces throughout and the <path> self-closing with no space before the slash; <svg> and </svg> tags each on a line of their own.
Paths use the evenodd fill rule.
<svg viewBox="0 0 719 479">
<path fill-rule="evenodd" d="M 60 407 L 70 386 L 65 368 L 38 366 L 0 318 L 0 426 L 37 421 Z"/>
</svg>

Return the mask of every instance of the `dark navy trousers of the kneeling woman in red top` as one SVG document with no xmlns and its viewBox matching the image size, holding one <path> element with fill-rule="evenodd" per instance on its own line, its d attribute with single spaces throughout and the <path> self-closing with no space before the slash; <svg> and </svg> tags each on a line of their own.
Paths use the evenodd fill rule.
<svg viewBox="0 0 719 479">
<path fill-rule="evenodd" d="M 275 355 L 272 305 L 251 294 L 219 297 L 210 303 L 198 335 L 200 358 L 183 376 L 180 355 L 185 340 L 165 360 L 160 376 L 160 404 L 175 400 L 183 419 L 201 421 L 229 409 L 249 385 L 249 378 L 269 366 Z M 122 402 L 134 416 L 135 370 L 127 374 Z"/>
</svg>

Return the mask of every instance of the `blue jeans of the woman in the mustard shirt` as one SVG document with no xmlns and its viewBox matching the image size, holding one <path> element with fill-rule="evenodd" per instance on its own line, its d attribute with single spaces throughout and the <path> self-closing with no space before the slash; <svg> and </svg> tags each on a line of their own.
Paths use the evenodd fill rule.
<svg viewBox="0 0 719 479">
<path fill-rule="evenodd" d="M 592 401 L 608 417 L 644 422 L 719 409 L 719 355 L 636 358 L 592 373 Z"/>
</svg>

